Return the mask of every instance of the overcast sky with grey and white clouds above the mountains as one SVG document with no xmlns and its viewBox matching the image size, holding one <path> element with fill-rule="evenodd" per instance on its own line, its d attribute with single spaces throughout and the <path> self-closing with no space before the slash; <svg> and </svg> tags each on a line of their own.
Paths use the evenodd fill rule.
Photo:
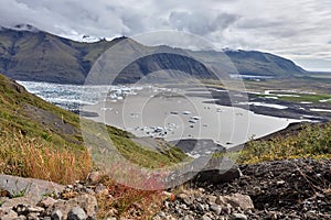
<svg viewBox="0 0 331 220">
<path fill-rule="evenodd" d="M 186 31 L 331 70 L 331 0 L 0 0 L 0 25 L 19 23 L 75 40 Z"/>
</svg>

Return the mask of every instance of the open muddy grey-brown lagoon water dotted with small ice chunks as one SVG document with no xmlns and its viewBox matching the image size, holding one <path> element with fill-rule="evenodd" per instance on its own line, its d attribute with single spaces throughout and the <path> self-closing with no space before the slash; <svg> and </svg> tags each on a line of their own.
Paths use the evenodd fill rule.
<svg viewBox="0 0 331 220">
<path fill-rule="evenodd" d="M 299 120 L 256 114 L 236 107 L 213 103 L 185 90 L 142 89 L 125 98 L 113 98 L 83 110 L 96 112 L 95 121 L 105 122 L 137 136 L 167 141 L 211 139 L 223 146 L 235 146 L 252 138 L 282 130 Z"/>
</svg>

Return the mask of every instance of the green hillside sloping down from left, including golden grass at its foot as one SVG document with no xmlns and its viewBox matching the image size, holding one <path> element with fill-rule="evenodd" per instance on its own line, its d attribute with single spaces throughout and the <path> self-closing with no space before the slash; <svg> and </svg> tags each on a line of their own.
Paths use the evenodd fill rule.
<svg viewBox="0 0 331 220">
<path fill-rule="evenodd" d="M 98 136 L 104 127 L 53 106 L 0 75 L 0 173 L 62 184 L 85 178 L 93 164 L 87 147 L 105 146 L 107 139 Z M 153 151 L 135 143 L 128 132 L 106 130 L 117 151 L 136 164 L 156 167 L 186 157 L 164 142 L 160 142 L 164 151 Z M 84 142 L 82 133 L 94 141 Z"/>
</svg>

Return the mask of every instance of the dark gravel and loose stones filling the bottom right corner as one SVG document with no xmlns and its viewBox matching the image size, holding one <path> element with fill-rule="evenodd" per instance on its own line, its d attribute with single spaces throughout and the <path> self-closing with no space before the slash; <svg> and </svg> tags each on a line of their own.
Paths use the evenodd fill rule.
<svg viewBox="0 0 331 220">
<path fill-rule="evenodd" d="M 331 161 L 241 166 L 232 183 L 188 188 L 154 219 L 331 219 Z"/>
</svg>

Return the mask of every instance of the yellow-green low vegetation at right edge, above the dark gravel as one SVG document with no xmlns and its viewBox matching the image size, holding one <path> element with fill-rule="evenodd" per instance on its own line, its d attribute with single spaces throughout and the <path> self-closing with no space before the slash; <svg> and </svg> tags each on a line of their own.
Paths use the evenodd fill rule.
<svg viewBox="0 0 331 220">
<path fill-rule="evenodd" d="M 252 140 L 239 153 L 237 162 L 254 164 L 302 157 L 331 158 L 331 122 L 307 124 L 297 134 L 276 136 L 268 141 Z"/>
</svg>

